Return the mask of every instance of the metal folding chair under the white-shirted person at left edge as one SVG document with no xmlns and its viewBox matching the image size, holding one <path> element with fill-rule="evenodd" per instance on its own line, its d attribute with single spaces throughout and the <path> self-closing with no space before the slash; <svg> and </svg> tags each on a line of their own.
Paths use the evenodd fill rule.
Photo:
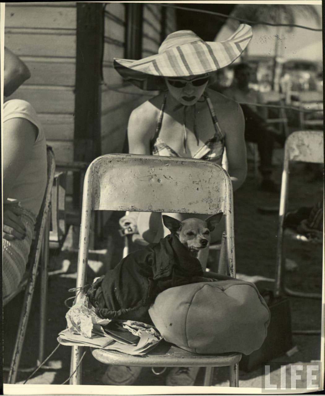
<svg viewBox="0 0 325 396">
<path fill-rule="evenodd" d="M 8 383 L 14 384 L 17 377 L 19 361 L 21 352 L 23 350 L 23 343 L 31 311 L 32 297 L 36 284 L 36 277 L 38 272 L 38 264 L 40 265 L 40 339 L 37 365 L 44 360 L 44 343 L 45 343 L 45 325 L 46 325 L 46 297 L 47 297 L 47 270 L 48 270 L 48 253 L 49 253 L 49 235 L 50 235 L 50 211 L 51 211 L 51 192 L 55 173 L 55 159 L 52 148 L 47 148 L 47 162 L 48 162 L 48 179 L 44 198 L 40 212 L 36 222 L 36 235 L 32 251 L 29 256 L 30 269 L 26 272 L 23 280 L 18 288 L 10 295 L 4 298 L 3 304 L 6 305 L 13 299 L 21 290 L 25 288 L 25 297 L 21 315 L 19 320 L 18 332 L 13 350 L 13 357 L 11 359 L 10 371 L 8 376 Z M 29 369 L 33 371 L 35 367 Z"/>
</svg>

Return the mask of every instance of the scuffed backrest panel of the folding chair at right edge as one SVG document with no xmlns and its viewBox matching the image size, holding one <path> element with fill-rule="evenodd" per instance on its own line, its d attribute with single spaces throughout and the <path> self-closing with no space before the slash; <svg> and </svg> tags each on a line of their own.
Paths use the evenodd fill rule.
<svg viewBox="0 0 325 396">
<path fill-rule="evenodd" d="M 323 131 L 295 131 L 285 142 L 285 162 L 324 163 Z"/>
</svg>

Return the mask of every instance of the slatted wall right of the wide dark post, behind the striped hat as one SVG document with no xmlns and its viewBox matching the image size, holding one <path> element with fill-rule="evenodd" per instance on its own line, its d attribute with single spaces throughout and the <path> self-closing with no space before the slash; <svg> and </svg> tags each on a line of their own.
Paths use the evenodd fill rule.
<svg viewBox="0 0 325 396">
<path fill-rule="evenodd" d="M 104 15 L 103 88 L 101 96 L 102 154 L 121 152 L 126 136 L 128 118 L 133 109 L 152 96 L 123 82 L 113 68 L 113 58 L 124 58 L 125 7 L 123 3 L 109 3 Z M 171 15 L 174 14 L 174 10 Z M 174 26 L 175 17 L 169 21 Z M 161 44 L 161 7 L 143 4 L 142 56 L 157 53 Z"/>
</svg>

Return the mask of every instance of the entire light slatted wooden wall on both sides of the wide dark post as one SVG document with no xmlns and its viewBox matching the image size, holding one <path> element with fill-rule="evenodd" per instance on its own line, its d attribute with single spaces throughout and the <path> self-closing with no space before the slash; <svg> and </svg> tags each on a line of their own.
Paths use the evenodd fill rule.
<svg viewBox="0 0 325 396">
<path fill-rule="evenodd" d="M 121 152 L 131 111 L 147 100 L 140 89 L 123 82 L 113 68 L 124 57 L 127 3 L 104 9 L 101 153 Z M 143 4 L 142 56 L 157 53 L 161 43 L 162 7 Z M 166 34 L 176 29 L 175 12 L 166 10 Z M 76 3 L 6 3 L 5 45 L 27 64 L 31 78 L 9 99 L 29 101 L 44 126 L 57 161 L 73 161 Z"/>
</svg>

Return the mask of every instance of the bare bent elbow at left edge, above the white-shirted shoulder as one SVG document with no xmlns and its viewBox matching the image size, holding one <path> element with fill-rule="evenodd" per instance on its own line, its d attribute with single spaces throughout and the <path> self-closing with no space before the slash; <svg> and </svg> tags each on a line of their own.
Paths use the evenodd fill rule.
<svg viewBox="0 0 325 396">
<path fill-rule="evenodd" d="M 31 72 L 19 57 L 8 48 L 4 48 L 4 96 L 10 96 L 24 81 L 31 77 Z"/>
</svg>

